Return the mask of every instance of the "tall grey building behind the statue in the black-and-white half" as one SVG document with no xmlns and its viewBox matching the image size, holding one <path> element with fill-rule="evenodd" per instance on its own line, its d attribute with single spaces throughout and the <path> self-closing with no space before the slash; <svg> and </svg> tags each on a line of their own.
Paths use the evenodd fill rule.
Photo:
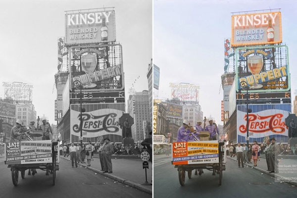
<svg viewBox="0 0 297 198">
<path fill-rule="evenodd" d="M 146 131 L 146 125 L 150 122 L 150 109 L 149 92 L 147 90 L 136 92 L 135 95 L 129 96 L 128 112 L 134 118 L 134 125 L 131 128 L 134 142 L 142 142 L 145 136 L 148 137 L 148 134 L 145 134 L 144 130 Z"/>
</svg>

